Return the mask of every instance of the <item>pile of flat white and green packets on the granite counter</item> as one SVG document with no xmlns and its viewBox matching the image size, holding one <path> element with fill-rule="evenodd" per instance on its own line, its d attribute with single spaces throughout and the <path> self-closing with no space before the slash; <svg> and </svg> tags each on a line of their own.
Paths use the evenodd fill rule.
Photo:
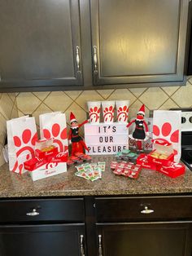
<svg viewBox="0 0 192 256">
<path fill-rule="evenodd" d="M 105 171 L 105 162 L 85 163 L 76 166 L 75 175 L 84 179 L 95 181 L 102 178 L 102 172 Z"/>
</svg>

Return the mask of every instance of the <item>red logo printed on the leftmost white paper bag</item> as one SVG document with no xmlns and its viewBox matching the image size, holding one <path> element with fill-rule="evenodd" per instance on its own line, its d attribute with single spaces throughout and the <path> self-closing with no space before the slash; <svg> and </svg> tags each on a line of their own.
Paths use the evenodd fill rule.
<svg viewBox="0 0 192 256">
<path fill-rule="evenodd" d="M 24 161 L 34 157 L 34 146 L 37 141 L 37 132 L 32 133 L 30 129 L 23 131 L 21 136 L 13 136 L 16 148 L 16 161 L 13 164 L 12 171 L 22 174 L 24 170 Z"/>
</svg>

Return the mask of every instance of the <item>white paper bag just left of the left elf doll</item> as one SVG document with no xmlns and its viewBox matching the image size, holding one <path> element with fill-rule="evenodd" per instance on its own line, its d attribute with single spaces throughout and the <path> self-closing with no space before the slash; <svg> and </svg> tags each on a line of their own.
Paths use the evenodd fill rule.
<svg viewBox="0 0 192 256">
<path fill-rule="evenodd" d="M 54 138 L 59 152 L 68 152 L 68 134 L 64 113 L 53 112 L 39 116 L 41 139 Z"/>
</svg>

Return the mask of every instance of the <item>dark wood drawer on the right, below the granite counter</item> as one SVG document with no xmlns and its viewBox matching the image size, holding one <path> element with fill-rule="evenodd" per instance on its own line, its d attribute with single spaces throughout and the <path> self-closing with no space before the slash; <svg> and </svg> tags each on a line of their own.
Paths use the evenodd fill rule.
<svg viewBox="0 0 192 256">
<path fill-rule="evenodd" d="M 98 223 L 192 219 L 192 196 L 97 197 L 95 208 Z"/>
</svg>

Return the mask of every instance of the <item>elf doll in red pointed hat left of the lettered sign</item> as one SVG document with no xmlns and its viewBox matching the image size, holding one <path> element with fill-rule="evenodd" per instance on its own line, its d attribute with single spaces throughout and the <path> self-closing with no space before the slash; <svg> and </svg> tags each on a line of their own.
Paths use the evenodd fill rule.
<svg viewBox="0 0 192 256">
<path fill-rule="evenodd" d="M 71 127 L 69 131 L 68 139 L 69 139 L 69 143 L 72 143 L 72 156 L 75 156 L 76 152 L 84 152 L 84 148 L 86 149 L 86 151 L 89 151 L 85 142 L 79 135 L 79 128 L 85 125 L 85 123 L 87 123 L 88 121 L 89 120 L 85 120 L 81 124 L 78 124 L 74 114 L 72 112 L 70 114 Z"/>
</svg>

